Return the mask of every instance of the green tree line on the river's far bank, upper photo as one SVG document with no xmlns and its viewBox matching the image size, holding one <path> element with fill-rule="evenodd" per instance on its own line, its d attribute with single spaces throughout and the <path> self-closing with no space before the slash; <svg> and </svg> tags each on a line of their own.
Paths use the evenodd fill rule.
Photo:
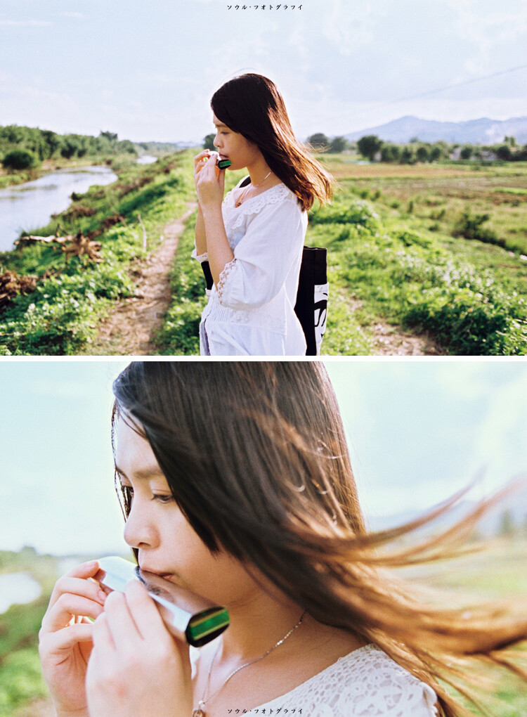
<svg viewBox="0 0 527 717">
<path fill-rule="evenodd" d="M 7 125 L 0 127 L 0 158 L 5 168 L 26 169 L 45 159 L 82 158 L 137 154 L 130 140 L 119 140 L 116 133 L 100 132 L 98 137 L 80 134 L 60 135 L 52 130 Z"/>
</svg>

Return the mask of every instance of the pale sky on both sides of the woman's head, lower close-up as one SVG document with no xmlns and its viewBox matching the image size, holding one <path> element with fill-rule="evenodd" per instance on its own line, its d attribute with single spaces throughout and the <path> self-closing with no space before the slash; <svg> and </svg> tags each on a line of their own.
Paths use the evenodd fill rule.
<svg viewBox="0 0 527 717">
<path fill-rule="evenodd" d="M 124 551 L 111 382 L 126 361 L 0 363 L 0 550 Z M 368 516 L 425 511 L 527 475 L 527 362 L 326 361 Z"/>
</svg>

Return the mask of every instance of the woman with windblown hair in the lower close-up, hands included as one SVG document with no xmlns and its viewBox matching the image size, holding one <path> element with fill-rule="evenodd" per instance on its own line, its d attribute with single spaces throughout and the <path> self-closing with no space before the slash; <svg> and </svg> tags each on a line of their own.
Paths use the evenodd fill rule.
<svg viewBox="0 0 527 717">
<path fill-rule="evenodd" d="M 75 568 L 40 635 L 58 717 L 460 717 L 462 658 L 506 665 L 527 637 L 524 605 L 419 604 L 381 570 L 441 546 L 366 532 L 321 364 L 134 362 L 114 392 L 126 541 L 231 625 L 191 660 L 140 583 L 106 597 Z"/>
</svg>

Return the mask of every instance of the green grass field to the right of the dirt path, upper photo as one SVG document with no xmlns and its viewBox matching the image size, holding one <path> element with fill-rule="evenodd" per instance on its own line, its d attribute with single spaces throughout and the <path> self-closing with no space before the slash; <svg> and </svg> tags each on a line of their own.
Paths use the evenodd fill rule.
<svg viewBox="0 0 527 717">
<path fill-rule="evenodd" d="M 527 353 L 527 163 L 318 159 L 338 182 L 331 206 L 310 212 L 306 237 L 328 249 L 323 354 L 375 353 L 379 320 L 425 333 L 437 353 Z M 227 189 L 240 176 L 228 173 Z M 171 355 L 198 351 L 204 298 L 189 259 L 194 221 L 180 242 L 174 302 L 161 332 L 162 352 Z M 473 238 L 452 236 L 456 228 L 468 233 L 466 224 Z"/>
</svg>

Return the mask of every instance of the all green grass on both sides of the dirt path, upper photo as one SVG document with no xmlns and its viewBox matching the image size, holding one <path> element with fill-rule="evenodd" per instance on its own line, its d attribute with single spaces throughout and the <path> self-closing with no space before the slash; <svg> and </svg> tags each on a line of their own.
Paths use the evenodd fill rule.
<svg viewBox="0 0 527 717">
<path fill-rule="evenodd" d="M 133 267 L 156 249 L 163 224 L 194 197 L 186 151 L 146 167 L 123 166 L 119 180 L 77 197 L 42 235 L 60 224 L 101 242 L 98 264 L 57 247 L 0 255 L 0 273 L 40 278 L 0 315 L 0 354 L 90 352 L 100 320 L 133 295 Z M 306 244 L 328 249 L 330 298 L 322 353 L 379 353 L 379 326 L 427 336 L 431 353 L 524 356 L 527 353 L 527 163 L 391 165 L 318 156 L 336 177 L 333 202 L 310 211 Z M 243 176 L 227 172 L 227 189 Z M 199 353 L 204 280 L 191 260 L 195 217 L 172 267 L 173 300 L 156 351 Z M 384 353 L 390 353 L 388 348 Z"/>
</svg>

